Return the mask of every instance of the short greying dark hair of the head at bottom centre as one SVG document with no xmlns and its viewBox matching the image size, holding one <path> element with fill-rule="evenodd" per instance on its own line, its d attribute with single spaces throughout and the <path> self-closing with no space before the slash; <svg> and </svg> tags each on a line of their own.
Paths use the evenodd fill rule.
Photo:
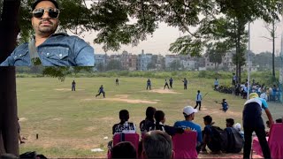
<svg viewBox="0 0 283 159">
<path fill-rule="evenodd" d="M 171 158 L 171 137 L 162 131 L 150 131 L 144 135 L 142 140 L 143 154 L 147 158 Z"/>
</svg>

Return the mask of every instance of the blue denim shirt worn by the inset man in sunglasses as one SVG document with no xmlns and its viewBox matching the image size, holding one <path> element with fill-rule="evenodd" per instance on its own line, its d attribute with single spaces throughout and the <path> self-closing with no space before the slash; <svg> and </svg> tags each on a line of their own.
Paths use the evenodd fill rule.
<svg viewBox="0 0 283 159">
<path fill-rule="evenodd" d="M 43 66 L 94 66 L 94 49 L 77 36 L 52 34 L 36 47 Z M 13 50 L 0 66 L 31 66 L 28 43 Z"/>
</svg>

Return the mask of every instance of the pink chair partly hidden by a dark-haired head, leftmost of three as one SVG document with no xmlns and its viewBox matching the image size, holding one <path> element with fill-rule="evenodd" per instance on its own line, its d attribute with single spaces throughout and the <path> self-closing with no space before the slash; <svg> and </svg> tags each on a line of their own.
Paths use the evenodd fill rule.
<svg viewBox="0 0 283 159">
<path fill-rule="evenodd" d="M 113 147 L 121 141 L 129 141 L 134 145 L 136 154 L 138 156 L 140 135 L 138 133 L 117 133 L 113 137 Z M 108 150 L 108 158 L 111 159 L 111 151 Z"/>
</svg>

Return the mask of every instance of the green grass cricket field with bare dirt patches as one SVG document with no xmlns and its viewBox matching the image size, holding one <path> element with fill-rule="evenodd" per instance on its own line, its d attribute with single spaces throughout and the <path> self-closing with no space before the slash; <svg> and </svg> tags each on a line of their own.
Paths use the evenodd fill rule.
<svg viewBox="0 0 283 159">
<path fill-rule="evenodd" d="M 151 91 L 145 89 L 146 78 L 119 78 L 119 87 L 115 86 L 115 79 L 76 78 L 77 91 L 72 92 L 73 78 L 66 78 L 64 82 L 52 78 L 18 78 L 19 123 L 21 134 L 27 137 L 26 143 L 19 147 L 20 153 L 37 151 L 47 157 L 106 157 L 111 127 L 119 123 L 119 110 L 129 110 L 129 120 L 138 127 L 146 108 L 153 106 L 164 111 L 165 124 L 173 125 L 184 119 L 184 106 L 195 106 L 198 89 L 203 95 L 208 94 L 203 99 L 203 110 L 195 114 L 195 123 L 203 128 L 205 115 L 213 117 L 215 125 L 222 128 L 227 117 L 241 123 L 245 100 L 213 91 L 213 79 L 188 79 L 187 90 L 183 90 L 180 80 L 175 80 L 169 91 L 163 89 L 164 79 L 151 79 Z M 220 79 L 221 82 L 224 81 Z M 100 85 L 104 86 L 105 99 L 102 95 L 95 97 Z M 226 113 L 219 110 L 222 98 L 230 105 Z M 281 116 L 281 104 L 270 103 L 270 108 L 274 118 Z M 263 117 L 266 118 L 265 114 Z M 92 148 L 104 151 L 91 152 Z"/>
</svg>

